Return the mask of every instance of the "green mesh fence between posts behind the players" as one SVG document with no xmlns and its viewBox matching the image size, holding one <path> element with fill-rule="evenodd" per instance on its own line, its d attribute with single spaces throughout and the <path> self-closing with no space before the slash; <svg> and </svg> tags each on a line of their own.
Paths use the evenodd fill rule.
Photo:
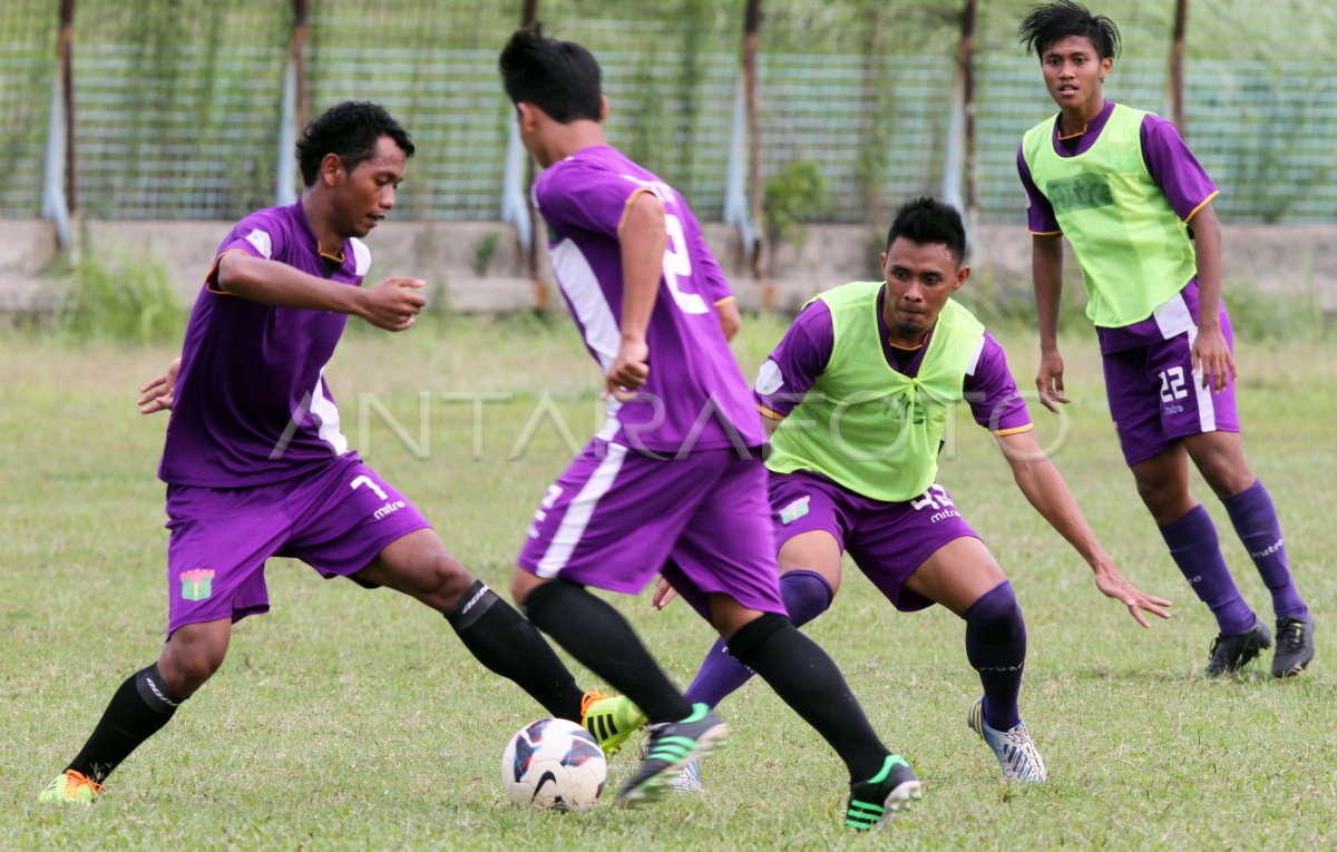
<svg viewBox="0 0 1337 852">
<path fill-rule="evenodd" d="M 496 219 L 512 114 L 496 56 L 519 0 L 310 0 L 313 111 L 385 104 L 418 155 L 397 215 Z M 761 171 L 798 192 L 802 218 L 878 222 L 939 192 L 947 168 L 959 4 L 763 0 Z M 1028 0 L 980 4 L 975 178 L 984 222 L 1024 222 L 1021 134 L 1054 110 L 1015 29 Z M 1092 1 L 1124 52 L 1116 101 L 1162 111 L 1173 0 Z M 1337 220 L 1337 83 L 1326 65 L 1337 11 L 1310 0 L 1194 0 L 1186 135 L 1221 186 L 1227 222 Z M 51 119 L 57 0 L 0 7 L 0 151 L 5 216 L 39 215 Z M 718 219 L 729 179 L 743 3 L 543 0 L 550 33 L 599 56 L 610 142 Z M 290 3 L 78 0 L 75 186 L 84 216 L 233 219 L 279 195 Z M 798 174 L 805 180 L 783 183 Z M 786 190 L 787 187 L 787 190 Z M 797 190 L 794 187 L 798 187 Z"/>
</svg>

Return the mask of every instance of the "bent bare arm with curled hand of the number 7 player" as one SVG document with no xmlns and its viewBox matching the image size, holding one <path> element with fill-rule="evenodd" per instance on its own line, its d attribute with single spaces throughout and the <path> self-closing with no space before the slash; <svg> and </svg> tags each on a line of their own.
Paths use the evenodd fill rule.
<svg viewBox="0 0 1337 852">
<path fill-rule="evenodd" d="M 427 298 L 418 292 L 425 284 L 396 275 L 374 287 L 349 287 L 239 251 L 219 258 L 217 278 L 218 290 L 251 302 L 352 314 L 388 331 L 402 331 L 413 325 L 413 318 L 427 304 Z"/>
</svg>

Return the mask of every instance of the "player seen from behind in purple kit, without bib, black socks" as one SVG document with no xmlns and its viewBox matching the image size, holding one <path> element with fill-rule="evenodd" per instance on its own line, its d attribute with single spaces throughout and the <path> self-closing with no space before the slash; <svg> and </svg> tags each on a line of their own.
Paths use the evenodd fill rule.
<svg viewBox="0 0 1337 852">
<path fill-rule="evenodd" d="M 500 71 L 520 139 L 544 168 L 533 199 L 552 268 L 604 374 L 607 423 L 548 489 L 512 582 L 529 620 L 651 722 L 619 793 L 660 797 L 725 724 L 687 701 L 618 612 L 586 590 L 638 593 L 663 566 L 682 596 L 836 749 L 846 825 L 881 824 L 919 797 L 836 664 L 785 617 L 758 450 L 765 441 L 713 300 L 722 279 L 686 202 L 608 147 L 595 57 L 537 28 Z M 707 298 L 705 294 L 710 294 Z"/>
</svg>

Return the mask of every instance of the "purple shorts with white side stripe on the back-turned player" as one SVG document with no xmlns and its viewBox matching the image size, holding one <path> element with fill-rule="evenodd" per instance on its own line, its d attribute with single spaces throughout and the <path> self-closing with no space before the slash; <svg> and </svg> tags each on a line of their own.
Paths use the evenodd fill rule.
<svg viewBox="0 0 1337 852">
<path fill-rule="evenodd" d="M 548 487 L 516 564 L 628 594 L 662 572 L 698 613 L 723 593 L 785 614 L 769 515 L 758 459 L 730 449 L 656 459 L 596 438 Z"/>
</svg>

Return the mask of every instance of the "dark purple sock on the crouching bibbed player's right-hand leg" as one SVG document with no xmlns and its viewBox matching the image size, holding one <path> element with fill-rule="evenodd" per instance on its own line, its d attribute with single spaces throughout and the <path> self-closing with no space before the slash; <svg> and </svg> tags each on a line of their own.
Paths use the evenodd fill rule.
<svg viewBox="0 0 1337 852">
<path fill-rule="evenodd" d="M 979 597 L 965 614 L 965 658 L 984 686 L 984 721 L 1011 730 L 1021 721 L 1017 694 L 1025 668 L 1025 622 L 1012 584 L 1004 580 Z"/>
</svg>

